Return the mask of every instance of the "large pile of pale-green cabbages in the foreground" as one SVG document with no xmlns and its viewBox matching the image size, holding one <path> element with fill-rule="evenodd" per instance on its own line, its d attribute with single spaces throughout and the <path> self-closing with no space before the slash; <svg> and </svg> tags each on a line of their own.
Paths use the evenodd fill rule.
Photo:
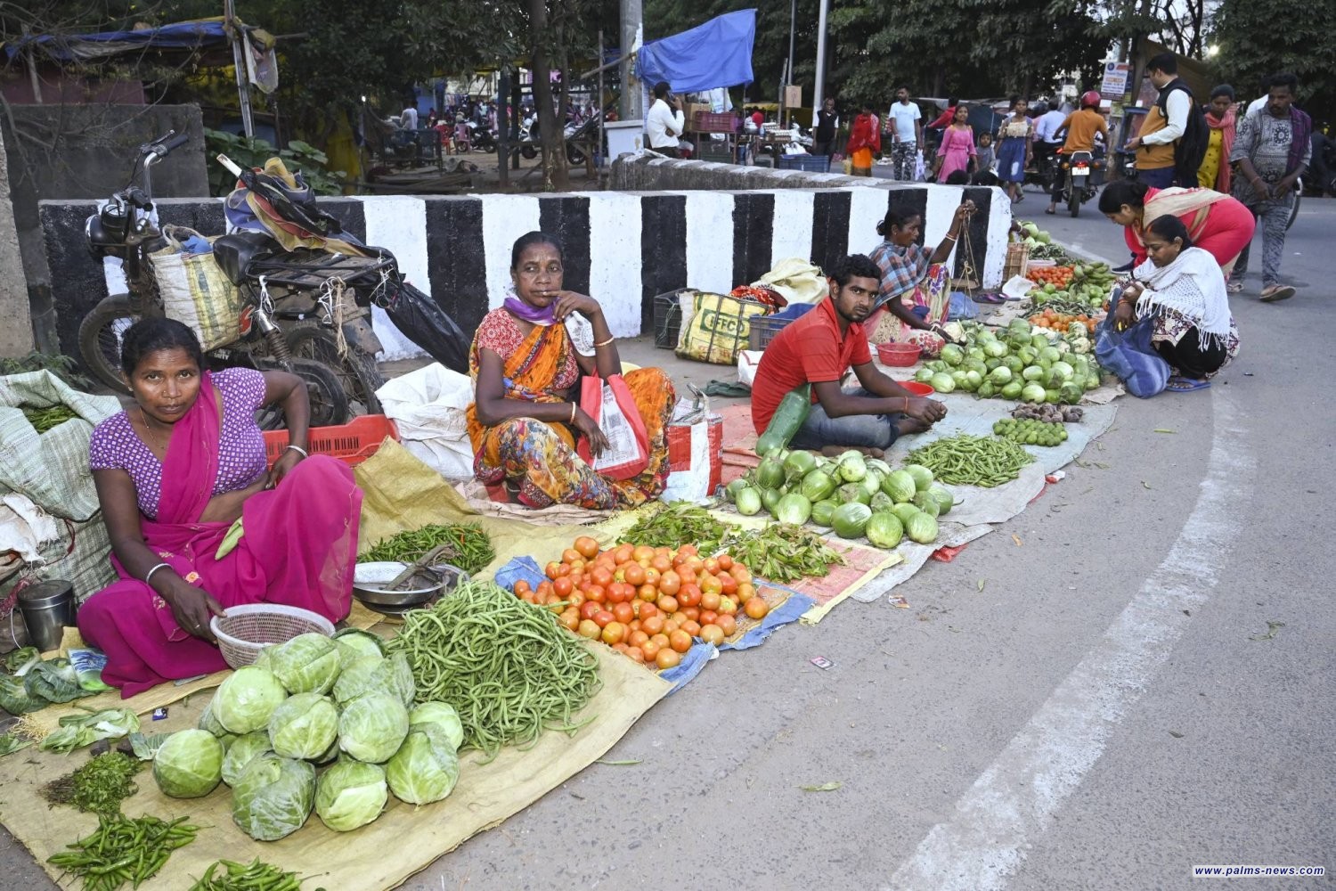
<svg viewBox="0 0 1336 891">
<path fill-rule="evenodd" d="M 261 651 L 214 695 L 196 729 L 154 756 L 164 795 L 232 791 L 232 822 L 275 842 L 314 810 L 347 832 L 375 820 L 389 795 L 440 801 L 460 779 L 464 727 L 446 703 L 414 705 L 413 672 L 381 640 L 347 629 L 301 635 Z"/>
</svg>

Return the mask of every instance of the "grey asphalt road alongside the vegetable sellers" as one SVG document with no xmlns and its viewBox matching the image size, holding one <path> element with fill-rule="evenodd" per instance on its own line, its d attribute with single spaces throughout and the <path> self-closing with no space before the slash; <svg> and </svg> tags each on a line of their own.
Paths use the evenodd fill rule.
<svg viewBox="0 0 1336 891">
<path fill-rule="evenodd" d="M 1125 259 L 1093 206 L 1042 206 L 1021 215 Z M 1336 200 L 1307 202 L 1284 262 L 1301 290 L 1263 305 L 1250 278 L 1214 386 L 1122 399 L 1066 480 L 896 589 L 908 609 L 850 601 L 724 655 L 608 756 L 639 764 L 591 767 L 403 887 L 1122 891 L 1196 887 L 1194 864 L 1336 870 L 1333 235 Z M 0 875 L 51 887 L 12 840 Z"/>
</svg>

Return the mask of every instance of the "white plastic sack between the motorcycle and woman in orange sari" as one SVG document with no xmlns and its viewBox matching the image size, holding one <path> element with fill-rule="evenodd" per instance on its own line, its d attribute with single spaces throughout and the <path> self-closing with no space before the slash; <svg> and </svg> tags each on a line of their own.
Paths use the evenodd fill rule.
<svg viewBox="0 0 1336 891">
<path fill-rule="evenodd" d="M 473 445 L 465 411 L 473 381 L 433 362 L 387 382 L 375 395 L 414 457 L 448 480 L 473 476 Z"/>
</svg>

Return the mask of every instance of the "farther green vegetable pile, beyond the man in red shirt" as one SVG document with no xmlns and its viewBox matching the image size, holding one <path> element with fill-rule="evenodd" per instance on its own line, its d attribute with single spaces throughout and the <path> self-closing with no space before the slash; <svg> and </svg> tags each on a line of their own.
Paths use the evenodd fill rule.
<svg viewBox="0 0 1336 891">
<path fill-rule="evenodd" d="M 965 343 L 947 343 L 939 358 L 914 375 L 938 393 L 1075 405 L 1086 390 L 1100 386 L 1100 365 L 1081 323 L 1073 323 L 1065 337 L 1021 318 L 997 331 L 975 323 L 954 331 Z"/>
</svg>

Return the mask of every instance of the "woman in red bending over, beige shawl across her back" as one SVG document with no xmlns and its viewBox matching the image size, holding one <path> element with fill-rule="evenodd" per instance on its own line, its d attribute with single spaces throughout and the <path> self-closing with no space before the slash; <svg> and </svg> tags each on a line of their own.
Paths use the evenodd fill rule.
<svg viewBox="0 0 1336 891">
<path fill-rule="evenodd" d="M 1257 226 L 1252 211 L 1229 195 L 1209 188 L 1149 188 L 1125 179 L 1104 187 L 1100 212 L 1125 227 L 1124 239 L 1137 266 L 1148 258 L 1145 231 L 1152 220 L 1177 216 L 1192 243 L 1214 256 L 1226 278 Z"/>
</svg>

